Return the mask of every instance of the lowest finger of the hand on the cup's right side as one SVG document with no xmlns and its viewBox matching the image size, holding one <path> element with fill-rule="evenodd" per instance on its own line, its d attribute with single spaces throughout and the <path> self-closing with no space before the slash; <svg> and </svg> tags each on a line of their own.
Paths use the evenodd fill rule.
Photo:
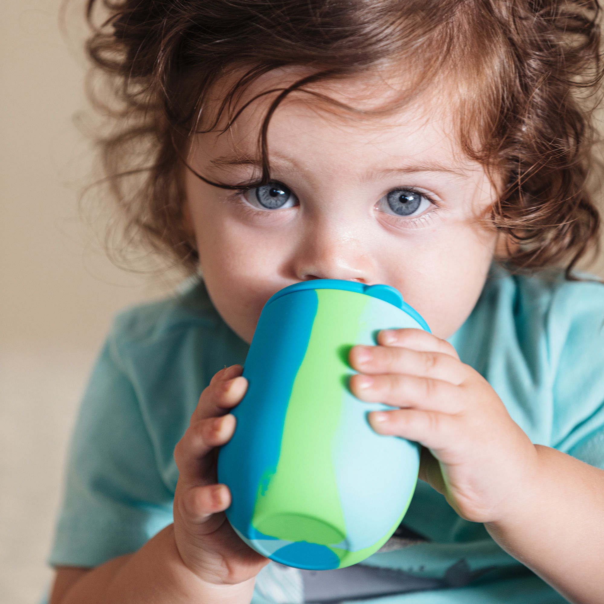
<svg viewBox="0 0 604 604">
<path fill-rule="evenodd" d="M 373 411 L 368 419 L 377 434 L 414 440 L 435 452 L 449 448 L 457 432 L 454 417 L 437 411 Z"/>
</svg>

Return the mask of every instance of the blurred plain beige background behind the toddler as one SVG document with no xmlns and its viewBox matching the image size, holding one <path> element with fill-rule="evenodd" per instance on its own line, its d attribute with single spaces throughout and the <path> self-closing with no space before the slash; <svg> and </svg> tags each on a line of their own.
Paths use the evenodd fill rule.
<svg viewBox="0 0 604 604">
<path fill-rule="evenodd" d="M 79 219 L 83 60 L 59 4 L 0 2 L 0 604 L 37 602 L 50 579 L 69 429 L 111 315 L 165 289 L 112 266 Z"/>
</svg>

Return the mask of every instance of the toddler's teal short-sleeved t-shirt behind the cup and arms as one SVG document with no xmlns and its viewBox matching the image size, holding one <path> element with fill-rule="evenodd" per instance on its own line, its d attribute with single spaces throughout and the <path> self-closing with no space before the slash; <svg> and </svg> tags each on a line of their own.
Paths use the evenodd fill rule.
<svg viewBox="0 0 604 604">
<path fill-rule="evenodd" d="M 604 468 L 604 285 L 493 269 L 450 341 L 533 443 Z M 77 419 L 51 564 L 95 567 L 172 522 L 174 447 L 213 374 L 243 364 L 247 350 L 203 283 L 117 317 Z M 422 481 L 403 522 L 426 541 L 374 554 L 363 566 L 434 580 L 439 589 L 383 604 L 565 602 Z M 254 604 L 279 602 L 269 567 Z M 288 597 L 281 602 L 295 604 Z"/>
</svg>

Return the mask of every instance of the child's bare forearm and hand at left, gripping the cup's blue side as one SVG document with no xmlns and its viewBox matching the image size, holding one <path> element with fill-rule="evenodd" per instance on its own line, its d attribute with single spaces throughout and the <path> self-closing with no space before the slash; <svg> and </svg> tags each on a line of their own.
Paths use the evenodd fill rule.
<svg viewBox="0 0 604 604">
<path fill-rule="evenodd" d="M 99 567 L 57 568 L 51 604 L 246 604 L 268 558 L 249 548 L 226 521 L 231 493 L 216 484 L 216 447 L 233 435 L 228 414 L 245 394 L 242 367 L 219 371 L 202 392 L 176 445 L 180 471 L 174 524 L 135 553 Z"/>
</svg>

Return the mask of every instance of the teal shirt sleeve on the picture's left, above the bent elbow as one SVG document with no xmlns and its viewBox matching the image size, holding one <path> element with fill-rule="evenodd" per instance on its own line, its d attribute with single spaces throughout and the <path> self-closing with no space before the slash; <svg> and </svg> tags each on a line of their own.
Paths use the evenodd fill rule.
<svg viewBox="0 0 604 604">
<path fill-rule="evenodd" d="M 50 564 L 95 567 L 140 548 L 172 522 L 132 383 L 110 336 L 74 429 Z"/>
</svg>

